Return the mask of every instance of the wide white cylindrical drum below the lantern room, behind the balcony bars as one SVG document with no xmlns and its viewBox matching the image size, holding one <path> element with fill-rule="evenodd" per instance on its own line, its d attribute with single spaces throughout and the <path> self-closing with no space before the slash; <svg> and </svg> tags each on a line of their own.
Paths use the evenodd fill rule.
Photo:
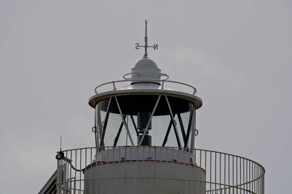
<svg viewBox="0 0 292 194">
<path fill-rule="evenodd" d="M 202 168 L 176 162 L 103 162 L 84 173 L 85 194 L 205 194 Z"/>
</svg>

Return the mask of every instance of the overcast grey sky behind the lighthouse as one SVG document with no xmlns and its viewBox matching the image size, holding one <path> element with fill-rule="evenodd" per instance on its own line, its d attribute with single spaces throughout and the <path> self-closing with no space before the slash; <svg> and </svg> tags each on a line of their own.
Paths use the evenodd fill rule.
<svg viewBox="0 0 292 194">
<path fill-rule="evenodd" d="M 94 146 L 93 89 L 143 56 L 203 100 L 196 146 L 266 169 L 292 192 L 292 0 L 0 0 L 0 193 L 35 194 L 55 152 Z M 104 87 L 105 90 L 111 87 Z"/>
</svg>

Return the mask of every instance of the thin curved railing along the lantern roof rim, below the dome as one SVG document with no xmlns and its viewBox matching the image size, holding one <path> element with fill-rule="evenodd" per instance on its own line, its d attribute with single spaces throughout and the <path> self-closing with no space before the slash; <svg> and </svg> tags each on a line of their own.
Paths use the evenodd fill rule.
<svg viewBox="0 0 292 194">
<path fill-rule="evenodd" d="M 162 84 L 161 84 L 161 89 L 164 90 L 164 82 L 171 82 L 171 83 L 178 83 L 178 84 L 181 84 L 181 85 L 185 85 L 185 86 L 188 86 L 190 88 L 193 89 L 193 92 L 191 93 L 192 95 L 195 95 L 197 93 L 197 89 L 189 84 L 186 84 L 186 83 L 183 83 L 183 82 L 179 82 L 179 81 L 169 81 L 169 80 L 153 80 L 153 79 L 128 79 L 128 80 L 119 80 L 119 81 L 110 81 L 110 82 L 107 82 L 107 83 L 103 83 L 103 84 L 100 84 L 98 85 L 95 89 L 94 89 L 94 92 L 95 94 L 98 94 L 97 92 L 97 88 L 101 87 L 101 86 L 104 86 L 104 85 L 108 85 L 108 84 L 112 84 L 113 85 L 113 89 L 112 90 L 117 90 L 118 88 L 116 88 L 116 85 L 115 83 L 118 83 L 118 82 L 126 82 L 126 81 L 145 81 L 145 82 L 151 82 L 151 81 L 161 81 Z"/>
</svg>

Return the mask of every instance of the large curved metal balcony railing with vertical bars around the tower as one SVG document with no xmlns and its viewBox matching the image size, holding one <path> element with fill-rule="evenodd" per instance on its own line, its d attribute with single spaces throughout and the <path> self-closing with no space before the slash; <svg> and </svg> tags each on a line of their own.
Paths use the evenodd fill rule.
<svg viewBox="0 0 292 194">
<path fill-rule="evenodd" d="M 157 148 L 167 149 L 166 156 L 163 151 L 157 151 Z M 153 152 L 153 147 L 148 146 L 139 146 L 139 149 L 137 146 L 115 146 L 102 147 L 103 151 L 96 153 L 98 149 L 99 147 L 88 147 L 58 153 L 57 194 L 108 194 L 114 193 L 109 192 L 109 189 L 115 188 L 112 184 L 119 187 L 138 185 L 142 180 L 144 190 L 152 188 L 154 184 L 156 192 L 152 192 L 153 194 L 165 193 L 160 181 L 170 186 L 167 187 L 167 194 L 174 192 L 171 187 L 176 184 L 195 188 L 184 190 L 185 194 L 264 194 L 265 169 L 259 163 L 240 156 L 203 149 L 194 149 L 192 154 L 179 150 L 179 147 L 156 147 Z M 138 150 L 143 152 L 142 157 L 134 154 Z M 152 164 L 154 168 L 151 167 Z M 168 170 L 160 170 L 157 174 L 158 169 L 164 166 L 169 166 Z M 178 166 L 180 172 L 177 172 Z M 165 181 L 172 181 L 172 184 Z M 96 188 L 88 189 L 91 187 Z M 158 187 L 161 187 L 160 190 Z M 130 194 L 126 189 L 120 193 Z M 139 192 L 151 193 L 144 190 Z"/>
</svg>

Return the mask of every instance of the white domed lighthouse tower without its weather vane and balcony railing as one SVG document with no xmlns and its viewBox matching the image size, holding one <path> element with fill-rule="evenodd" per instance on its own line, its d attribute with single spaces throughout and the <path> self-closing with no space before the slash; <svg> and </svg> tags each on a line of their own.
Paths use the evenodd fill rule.
<svg viewBox="0 0 292 194">
<path fill-rule="evenodd" d="M 99 164 L 84 174 L 89 179 L 85 192 L 205 193 L 205 171 L 192 162 L 195 116 L 202 100 L 162 86 L 168 76 L 149 58 L 139 60 L 130 74 L 130 85 L 96 92 L 89 100 L 96 112 Z"/>
</svg>

